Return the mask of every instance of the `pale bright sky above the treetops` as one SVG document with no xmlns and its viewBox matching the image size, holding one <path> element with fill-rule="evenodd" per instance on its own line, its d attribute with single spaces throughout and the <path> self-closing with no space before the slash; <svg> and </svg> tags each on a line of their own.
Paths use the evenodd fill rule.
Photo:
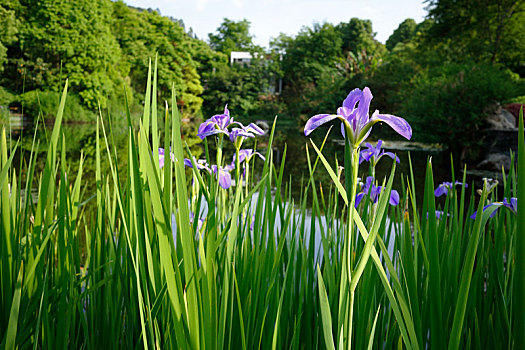
<svg viewBox="0 0 525 350">
<path fill-rule="evenodd" d="M 421 22 L 427 14 L 423 0 L 124 0 L 135 7 L 159 9 L 182 19 L 199 39 L 208 39 L 224 18 L 250 21 L 254 43 L 268 47 L 279 33 L 296 35 L 314 23 L 339 24 L 352 17 L 370 19 L 376 39 L 384 43 L 407 18 Z"/>
</svg>

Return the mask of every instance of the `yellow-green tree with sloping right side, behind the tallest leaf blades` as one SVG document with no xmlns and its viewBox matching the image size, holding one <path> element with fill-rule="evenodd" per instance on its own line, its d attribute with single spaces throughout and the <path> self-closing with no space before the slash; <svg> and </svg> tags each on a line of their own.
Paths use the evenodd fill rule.
<svg viewBox="0 0 525 350">
<path fill-rule="evenodd" d="M 140 91 L 146 80 L 151 53 L 158 56 L 158 91 L 168 99 L 175 84 L 178 103 L 185 115 L 195 115 L 201 107 L 202 93 L 193 42 L 179 25 L 156 11 L 137 10 L 122 1 L 113 3 L 114 35 L 129 71 L 131 86 Z M 143 100 L 143 97 L 140 97 Z"/>
</svg>

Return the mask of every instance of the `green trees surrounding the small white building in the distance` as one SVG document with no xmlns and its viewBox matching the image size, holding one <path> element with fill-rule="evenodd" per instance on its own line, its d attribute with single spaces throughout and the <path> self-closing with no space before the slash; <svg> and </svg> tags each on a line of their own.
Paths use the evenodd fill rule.
<svg viewBox="0 0 525 350">
<path fill-rule="evenodd" d="M 265 54 L 254 46 L 249 34 L 249 22 L 225 19 L 210 34 L 211 48 L 194 42 L 199 62 L 198 72 L 204 85 L 202 114 L 205 118 L 221 112 L 224 106 L 244 121 L 268 119 L 283 111 L 283 105 L 274 90 L 281 76 L 279 54 Z M 249 63 L 231 63 L 233 50 L 252 55 Z"/>
</svg>

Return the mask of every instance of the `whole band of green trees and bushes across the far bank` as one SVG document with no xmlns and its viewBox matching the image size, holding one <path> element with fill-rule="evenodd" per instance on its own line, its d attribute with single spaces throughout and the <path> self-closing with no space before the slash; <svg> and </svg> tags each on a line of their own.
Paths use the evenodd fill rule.
<svg viewBox="0 0 525 350">
<path fill-rule="evenodd" d="M 524 102 L 525 1 L 433 0 L 428 10 L 421 23 L 403 21 L 385 45 L 369 20 L 351 18 L 281 34 L 264 49 L 253 43 L 247 20 L 224 19 L 205 42 L 182 20 L 122 1 L 4 0 L 0 103 L 24 105 L 34 116 L 40 97 L 49 101 L 43 113 L 50 117 L 67 77 L 82 111 L 73 119 L 94 120 L 99 103 L 118 106 L 124 89 L 132 112 L 140 111 L 148 60 L 158 52 L 158 95 L 166 99 L 174 83 L 189 118 L 228 103 L 244 119 L 304 121 L 334 111 L 347 91 L 367 85 L 374 107 L 406 117 L 417 138 L 452 149 L 476 146 L 472 133 L 483 128 L 487 107 Z M 231 65 L 231 51 L 254 58 Z M 428 132 L 429 123 L 437 129 Z"/>
</svg>

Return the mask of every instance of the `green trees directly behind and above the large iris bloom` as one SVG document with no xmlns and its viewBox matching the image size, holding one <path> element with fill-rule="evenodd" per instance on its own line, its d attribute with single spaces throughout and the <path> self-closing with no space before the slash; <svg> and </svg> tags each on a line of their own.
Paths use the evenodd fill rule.
<svg viewBox="0 0 525 350">
<path fill-rule="evenodd" d="M 273 45 L 286 52 L 283 100 L 295 118 L 334 111 L 349 90 L 373 75 L 385 52 L 371 22 L 357 18 L 304 27 L 295 38 L 281 36 Z"/>
</svg>

